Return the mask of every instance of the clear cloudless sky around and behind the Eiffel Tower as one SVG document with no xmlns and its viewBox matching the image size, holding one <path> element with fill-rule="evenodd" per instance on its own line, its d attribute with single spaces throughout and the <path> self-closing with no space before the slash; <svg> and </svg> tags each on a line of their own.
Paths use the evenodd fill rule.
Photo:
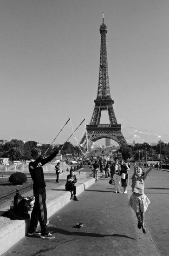
<svg viewBox="0 0 169 256">
<path fill-rule="evenodd" d="M 0 139 L 51 143 L 70 117 L 89 124 L 103 12 L 118 124 L 169 135 L 169 0 L 1 0 Z"/>
</svg>

